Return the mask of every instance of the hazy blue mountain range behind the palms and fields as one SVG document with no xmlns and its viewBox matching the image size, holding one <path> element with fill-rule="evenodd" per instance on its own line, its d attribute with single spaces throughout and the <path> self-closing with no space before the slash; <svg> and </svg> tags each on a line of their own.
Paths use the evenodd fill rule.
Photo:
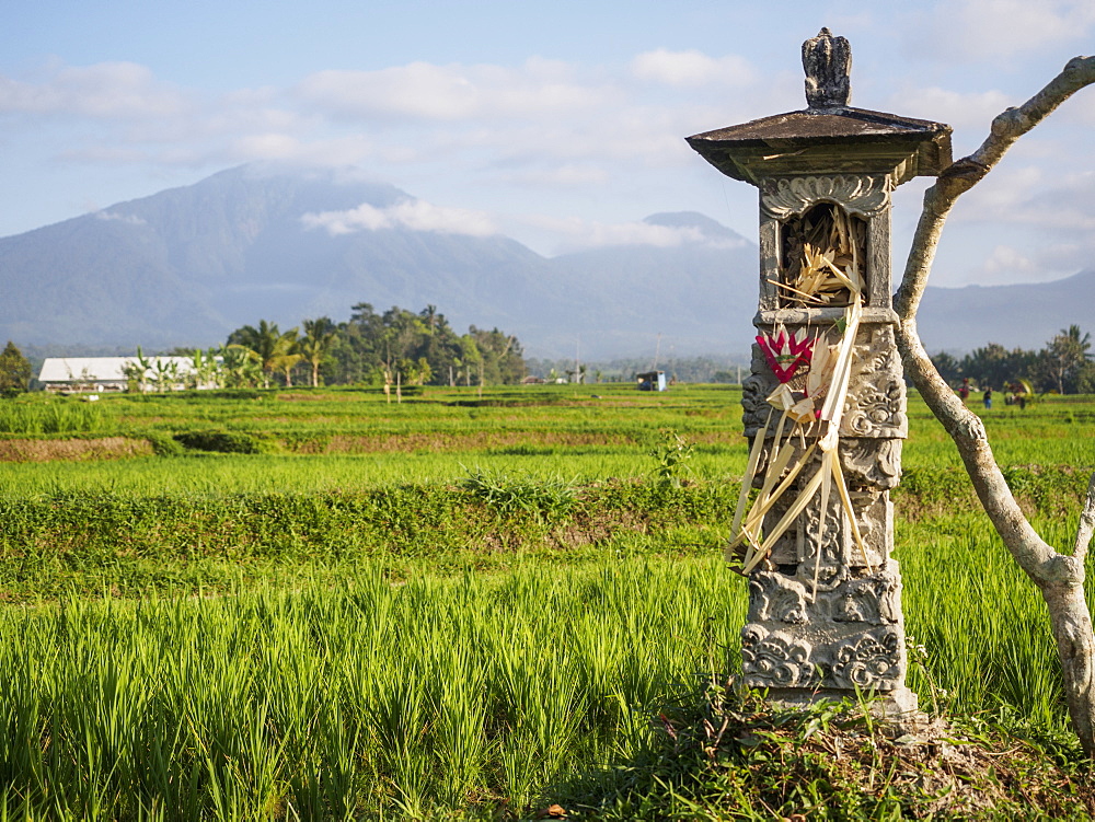
<svg viewBox="0 0 1095 822">
<path fill-rule="evenodd" d="M 583 359 L 748 350 L 757 246 L 699 213 L 647 218 L 661 245 L 545 258 L 499 235 L 392 220 L 420 204 L 359 174 L 260 165 L 0 239 L 0 340 L 147 350 L 209 346 L 260 319 L 437 305 L 529 355 Z M 474 232 L 473 232 L 474 233 Z M 1040 347 L 1095 304 L 1095 273 L 1058 283 L 930 289 L 930 350 Z M 1081 312 L 1086 313 L 1086 312 Z"/>
</svg>

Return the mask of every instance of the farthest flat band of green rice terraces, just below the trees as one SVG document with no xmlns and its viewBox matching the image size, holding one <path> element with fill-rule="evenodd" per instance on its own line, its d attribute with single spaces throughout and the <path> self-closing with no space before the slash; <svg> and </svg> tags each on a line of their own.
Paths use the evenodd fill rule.
<svg viewBox="0 0 1095 822">
<path fill-rule="evenodd" d="M 405 482 L 454 483 L 475 468 L 592 482 L 648 475 L 655 470 L 652 449 L 664 443 L 666 430 L 691 445 L 689 468 L 698 478 L 736 482 L 747 458 L 736 387 L 678 386 L 661 395 L 615 385 L 493 389 L 484 392 L 481 405 L 475 392 L 450 389 L 430 389 L 402 404 L 387 403 L 379 393 L 346 390 L 252 394 L 249 398 L 218 392 L 104 396 L 95 406 L 56 397 L 0 403 L 0 414 L 35 419 L 71 409 L 89 416 L 81 424 L 89 428 L 81 430 L 103 436 L 157 442 L 178 436 L 200 442 L 216 432 L 250 436 L 263 450 L 276 452 L 79 465 L 0 462 L 0 494 L 313 493 Z M 101 418 L 90 419 L 96 413 Z M 1090 397 L 1047 401 L 1022 412 L 1004 407 L 983 416 L 1003 465 L 1095 470 L 1095 437 L 1085 436 L 1095 420 L 1095 402 Z M 22 436 L 38 436 L 30 430 L 33 426 L 20 426 L 27 429 Z M 906 467 L 960 464 L 953 443 L 915 396 L 910 397 L 909 426 Z"/>
</svg>

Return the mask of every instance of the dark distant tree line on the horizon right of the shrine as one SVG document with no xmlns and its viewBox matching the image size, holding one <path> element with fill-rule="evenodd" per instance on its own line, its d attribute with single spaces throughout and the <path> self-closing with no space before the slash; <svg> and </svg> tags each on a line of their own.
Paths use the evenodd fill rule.
<svg viewBox="0 0 1095 822">
<path fill-rule="evenodd" d="M 1011 389 L 1026 383 L 1039 393 L 1095 393 L 1095 361 L 1092 360 L 1091 334 L 1079 325 L 1062 328 L 1039 351 L 1022 348 L 1007 350 L 989 343 L 961 359 L 945 351 L 932 357 L 932 363 L 952 387 L 964 380 L 980 390 Z"/>
</svg>

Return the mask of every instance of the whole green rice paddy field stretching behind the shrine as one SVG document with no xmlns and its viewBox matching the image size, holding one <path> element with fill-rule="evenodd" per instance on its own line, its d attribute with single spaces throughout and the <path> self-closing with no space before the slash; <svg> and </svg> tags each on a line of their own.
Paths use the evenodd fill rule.
<svg viewBox="0 0 1095 822">
<path fill-rule="evenodd" d="M 0 817 L 855 818 L 823 790 L 782 810 L 621 799 L 678 743 L 666 717 L 739 663 L 748 591 L 722 561 L 739 401 L 0 402 Z M 1075 759 L 1040 599 L 942 428 L 915 397 L 909 414 L 910 684 Z M 984 420 L 1039 531 L 1071 545 L 1095 397 Z"/>
</svg>

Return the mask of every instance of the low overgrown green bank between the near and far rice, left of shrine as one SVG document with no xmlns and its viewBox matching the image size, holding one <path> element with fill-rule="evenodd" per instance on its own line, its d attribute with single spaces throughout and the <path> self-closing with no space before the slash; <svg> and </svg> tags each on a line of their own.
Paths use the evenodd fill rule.
<svg viewBox="0 0 1095 822">
<path fill-rule="evenodd" d="M 173 460 L 172 470 L 184 462 Z M 612 552 L 618 542 L 642 536 L 644 552 L 691 554 L 725 540 L 725 528 L 694 523 L 701 517 L 727 521 L 733 501 L 724 486 L 696 484 L 666 494 L 653 484 L 576 487 L 558 477 L 481 472 L 459 487 L 388 485 L 307 495 L 4 494 L 0 583 L 13 598 L 16 589 L 35 595 L 65 584 L 95 591 L 122 584 L 123 575 L 123 590 L 139 594 L 158 584 L 147 579 L 145 558 L 198 567 L 378 556 L 395 564 L 479 563 L 497 551 L 550 556 L 563 525 L 572 549 Z"/>
</svg>

